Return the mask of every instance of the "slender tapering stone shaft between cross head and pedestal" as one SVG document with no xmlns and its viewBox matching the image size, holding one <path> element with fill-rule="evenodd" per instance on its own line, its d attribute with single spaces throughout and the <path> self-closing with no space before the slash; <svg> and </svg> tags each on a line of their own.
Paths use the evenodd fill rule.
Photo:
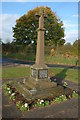
<svg viewBox="0 0 80 120">
<path fill-rule="evenodd" d="M 40 67 L 44 64 L 44 16 L 39 17 L 39 28 L 37 38 L 36 64 Z"/>
</svg>

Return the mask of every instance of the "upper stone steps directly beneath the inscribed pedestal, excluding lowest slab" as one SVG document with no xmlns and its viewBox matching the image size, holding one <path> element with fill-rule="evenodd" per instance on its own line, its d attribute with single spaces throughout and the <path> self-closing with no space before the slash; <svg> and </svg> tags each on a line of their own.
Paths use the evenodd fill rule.
<svg viewBox="0 0 80 120">
<path fill-rule="evenodd" d="M 51 82 L 50 79 L 41 79 L 40 81 L 36 81 L 32 77 L 20 80 L 16 87 L 26 98 L 49 97 L 52 96 L 54 89 L 57 89 L 56 83 Z"/>
</svg>

